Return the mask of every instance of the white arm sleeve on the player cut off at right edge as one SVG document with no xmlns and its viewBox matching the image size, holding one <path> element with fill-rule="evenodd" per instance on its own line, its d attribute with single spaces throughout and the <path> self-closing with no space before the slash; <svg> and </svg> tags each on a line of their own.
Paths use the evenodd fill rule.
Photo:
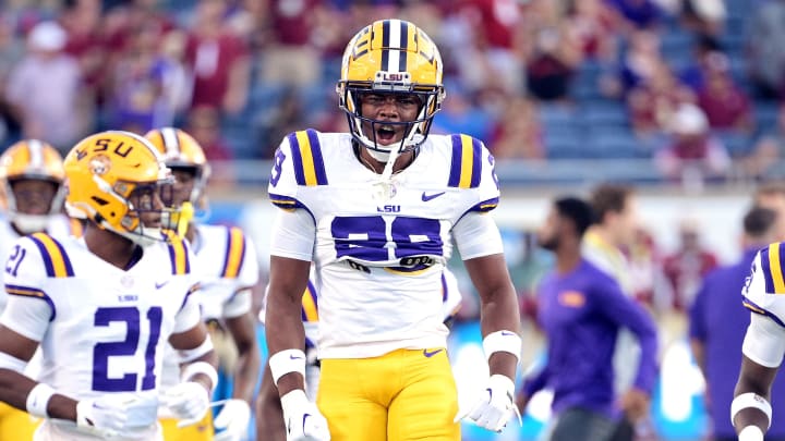
<svg viewBox="0 0 785 441">
<path fill-rule="evenodd" d="M 778 367 L 785 354 L 785 328 L 760 314 L 751 313 L 750 316 L 741 353 L 761 366 Z"/>
</svg>

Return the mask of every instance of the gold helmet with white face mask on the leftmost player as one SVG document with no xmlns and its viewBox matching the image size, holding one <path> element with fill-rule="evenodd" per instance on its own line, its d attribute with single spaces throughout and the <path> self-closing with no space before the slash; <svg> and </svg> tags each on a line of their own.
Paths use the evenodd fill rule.
<svg viewBox="0 0 785 441">
<path fill-rule="evenodd" d="M 43 140 L 20 140 L 0 156 L 0 194 L 4 197 L 9 219 L 19 231 L 29 234 L 46 230 L 51 217 L 62 209 L 65 196 L 63 177 L 62 157 L 55 147 Z M 55 184 L 55 196 L 44 215 L 20 211 L 13 184 L 22 180 Z"/>
</svg>

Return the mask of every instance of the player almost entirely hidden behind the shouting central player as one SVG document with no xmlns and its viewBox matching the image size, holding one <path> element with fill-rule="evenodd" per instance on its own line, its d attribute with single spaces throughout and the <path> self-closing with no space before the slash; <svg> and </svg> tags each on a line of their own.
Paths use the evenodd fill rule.
<svg viewBox="0 0 785 441">
<path fill-rule="evenodd" d="M 445 323 L 451 324 L 452 319 L 460 309 L 461 294 L 458 290 L 458 280 L 445 268 L 442 274 L 442 311 Z M 259 311 L 259 321 L 265 321 L 264 308 Z M 318 294 L 312 282 L 309 282 L 302 298 L 302 320 L 305 330 L 305 392 L 309 396 L 316 396 L 319 382 L 318 351 L 316 350 L 318 331 Z M 287 431 L 283 427 L 282 409 L 278 390 L 273 384 L 273 375 L 269 365 L 262 376 L 262 385 L 256 397 L 256 438 L 267 441 L 287 441 Z"/>
</svg>

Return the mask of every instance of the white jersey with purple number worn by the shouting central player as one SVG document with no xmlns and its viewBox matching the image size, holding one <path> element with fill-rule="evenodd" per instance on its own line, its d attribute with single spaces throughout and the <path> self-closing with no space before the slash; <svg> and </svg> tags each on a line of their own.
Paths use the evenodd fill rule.
<svg viewBox="0 0 785 441">
<path fill-rule="evenodd" d="M 431 135 L 411 166 L 382 184 L 350 134 L 295 132 L 276 152 L 268 193 L 315 221 L 321 358 L 446 345 L 442 274 L 452 226 L 499 197 L 480 140 Z"/>
</svg>

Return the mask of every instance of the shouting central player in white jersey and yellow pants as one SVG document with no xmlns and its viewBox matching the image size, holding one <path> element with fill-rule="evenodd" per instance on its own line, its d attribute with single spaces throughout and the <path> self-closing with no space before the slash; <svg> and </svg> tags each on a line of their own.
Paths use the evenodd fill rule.
<svg viewBox="0 0 785 441">
<path fill-rule="evenodd" d="M 440 296 L 452 241 L 480 295 L 491 371 L 468 416 L 499 431 L 516 409 L 521 341 L 487 215 L 499 197 L 494 159 L 470 136 L 428 136 L 444 98 L 442 59 L 412 23 L 360 30 L 337 91 L 351 133 L 288 135 L 268 187 L 282 210 L 271 236 L 267 345 L 288 439 L 460 439 Z M 312 262 L 317 406 L 303 381 L 301 302 Z"/>
</svg>

